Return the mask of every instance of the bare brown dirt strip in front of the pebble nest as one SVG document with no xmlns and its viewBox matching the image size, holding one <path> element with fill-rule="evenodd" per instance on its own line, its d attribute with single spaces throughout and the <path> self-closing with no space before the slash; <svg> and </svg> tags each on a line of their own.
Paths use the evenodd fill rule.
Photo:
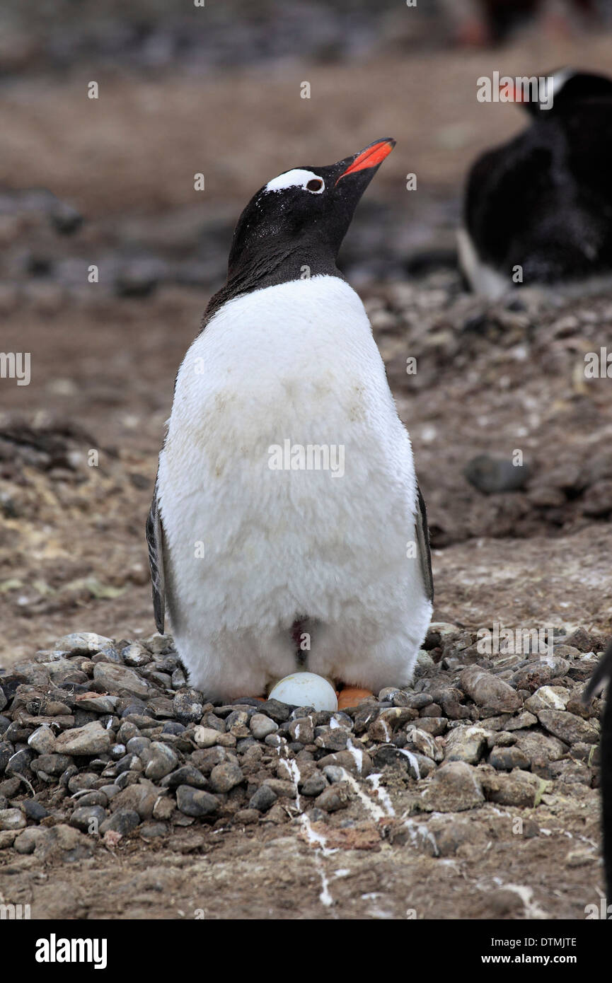
<svg viewBox="0 0 612 983">
<path fill-rule="evenodd" d="M 538 806 L 545 832 L 513 835 L 526 812 L 463 813 L 468 841 L 447 857 L 431 855 L 427 822 L 412 821 L 392 842 L 399 824 L 326 828 L 327 856 L 296 827 L 176 831 L 155 846 L 136 838 L 73 862 L 12 857 L 0 892 L 31 904 L 32 918 L 583 918 L 602 887 L 596 792 L 573 789 Z"/>
</svg>

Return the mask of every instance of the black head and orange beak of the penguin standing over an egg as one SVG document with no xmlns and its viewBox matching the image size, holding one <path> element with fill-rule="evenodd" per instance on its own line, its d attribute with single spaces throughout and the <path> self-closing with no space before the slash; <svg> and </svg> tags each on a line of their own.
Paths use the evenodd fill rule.
<svg viewBox="0 0 612 983">
<path fill-rule="evenodd" d="M 336 260 L 357 202 L 395 145 L 386 137 L 336 164 L 284 171 L 260 188 L 238 219 L 229 275 L 267 251 Z"/>
</svg>

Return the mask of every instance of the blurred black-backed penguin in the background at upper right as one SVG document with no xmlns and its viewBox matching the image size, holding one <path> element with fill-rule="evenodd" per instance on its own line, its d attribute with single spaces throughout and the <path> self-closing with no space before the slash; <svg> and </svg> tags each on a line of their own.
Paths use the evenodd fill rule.
<svg viewBox="0 0 612 983">
<path fill-rule="evenodd" d="M 612 280 L 612 80 L 568 69 L 548 79 L 545 100 L 516 92 L 529 126 L 468 176 L 459 263 L 492 299 Z"/>
</svg>

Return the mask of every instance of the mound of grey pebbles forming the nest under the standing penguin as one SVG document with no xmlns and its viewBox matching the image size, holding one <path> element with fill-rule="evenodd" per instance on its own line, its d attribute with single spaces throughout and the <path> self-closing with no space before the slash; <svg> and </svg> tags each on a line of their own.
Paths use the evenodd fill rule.
<svg viewBox="0 0 612 983">
<path fill-rule="evenodd" d="M 489 657 L 475 633 L 433 623 L 411 687 L 331 713 L 207 702 L 167 635 L 67 635 L 0 670 L 0 847 L 77 859 L 92 838 L 312 831 L 353 802 L 384 823 L 487 801 L 535 808 L 558 783 L 593 787 L 601 701 L 584 707 L 581 693 L 605 640 L 582 628 L 554 638 L 545 652 Z"/>
</svg>

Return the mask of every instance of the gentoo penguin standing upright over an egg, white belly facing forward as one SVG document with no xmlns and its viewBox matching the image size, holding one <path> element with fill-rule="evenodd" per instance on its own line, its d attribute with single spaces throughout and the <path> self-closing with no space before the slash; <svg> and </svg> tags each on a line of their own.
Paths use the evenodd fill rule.
<svg viewBox="0 0 612 983">
<path fill-rule="evenodd" d="M 147 523 L 153 608 L 209 699 L 296 669 L 368 692 L 412 678 L 433 598 L 425 505 L 336 265 L 394 145 L 257 192 L 178 370 Z"/>
</svg>

